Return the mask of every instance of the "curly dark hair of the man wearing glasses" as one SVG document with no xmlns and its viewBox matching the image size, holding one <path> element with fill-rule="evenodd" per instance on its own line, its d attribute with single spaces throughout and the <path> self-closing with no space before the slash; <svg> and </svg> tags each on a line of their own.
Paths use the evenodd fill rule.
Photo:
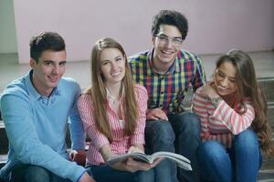
<svg viewBox="0 0 274 182">
<path fill-rule="evenodd" d="M 157 35 L 160 30 L 160 25 L 174 25 L 176 26 L 182 34 L 182 39 L 184 40 L 188 31 L 187 19 L 179 12 L 172 10 L 161 10 L 159 14 L 155 15 L 153 18 L 153 35 Z"/>
</svg>

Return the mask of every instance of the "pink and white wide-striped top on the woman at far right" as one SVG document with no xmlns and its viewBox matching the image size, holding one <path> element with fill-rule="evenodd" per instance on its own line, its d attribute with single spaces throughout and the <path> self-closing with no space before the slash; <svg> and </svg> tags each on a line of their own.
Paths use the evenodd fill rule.
<svg viewBox="0 0 274 182">
<path fill-rule="evenodd" d="M 249 99 L 245 105 L 247 112 L 240 115 L 222 100 L 215 107 L 209 99 L 200 94 L 201 88 L 195 92 L 193 100 L 193 112 L 201 119 L 201 137 L 203 141 L 214 139 L 225 147 L 231 147 L 234 135 L 246 130 L 255 118 L 253 106 Z M 243 107 L 242 107 L 243 109 Z"/>
</svg>

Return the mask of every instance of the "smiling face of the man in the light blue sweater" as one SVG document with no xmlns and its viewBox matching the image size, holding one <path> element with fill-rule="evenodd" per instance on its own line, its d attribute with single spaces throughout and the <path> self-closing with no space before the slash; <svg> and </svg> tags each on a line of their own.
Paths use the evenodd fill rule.
<svg viewBox="0 0 274 182">
<path fill-rule="evenodd" d="M 30 59 L 33 69 L 32 83 L 41 96 L 49 96 L 58 86 L 59 79 L 66 70 L 66 51 L 46 50 L 39 57 L 38 62 Z"/>
</svg>

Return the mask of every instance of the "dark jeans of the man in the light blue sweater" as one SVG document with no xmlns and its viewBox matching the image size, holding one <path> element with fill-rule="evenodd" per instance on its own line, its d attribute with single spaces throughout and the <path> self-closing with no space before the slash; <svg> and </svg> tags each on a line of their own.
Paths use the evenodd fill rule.
<svg viewBox="0 0 274 182">
<path fill-rule="evenodd" d="M 71 182 L 49 172 L 44 167 L 20 165 L 10 174 L 9 182 Z"/>
</svg>

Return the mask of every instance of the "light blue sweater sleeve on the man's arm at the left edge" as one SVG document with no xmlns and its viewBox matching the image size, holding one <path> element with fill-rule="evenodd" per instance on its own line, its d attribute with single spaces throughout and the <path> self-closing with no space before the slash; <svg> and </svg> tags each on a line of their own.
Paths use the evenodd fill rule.
<svg viewBox="0 0 274 182">
<path fill-rule="evenodd" d="M 69 162 L 51 147 L 41 143 L 27 96 L 24 94 L 2 96 L 1 109 L 5 131 L 18 160 L 24 164 L 45 167 L 59 177 L 69 178 L 72 181 L 76 181 L 83 174 L 85 171 L 83 167 Z"/>
</svg>

